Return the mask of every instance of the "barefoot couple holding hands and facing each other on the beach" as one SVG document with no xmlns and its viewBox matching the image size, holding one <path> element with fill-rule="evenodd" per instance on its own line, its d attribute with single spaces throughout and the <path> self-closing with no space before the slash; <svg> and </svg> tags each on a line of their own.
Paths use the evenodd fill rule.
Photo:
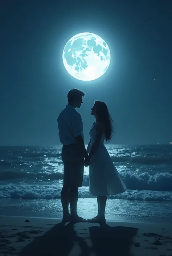
<svg viewBox="0 0 172 256">
<path fill-rule="evenodd" d="M 85 93 L 71 89 L 67 94 L 68 105 L 62 110 L 57 121 L 60 142 L 62 143 L 62 161 L 64 163 L 64 183 L 61 191 L 61 203 L 64 222 L 105 223 L 105 207 L 108 195 L 120 194 L 127 190 L 123 180 L 103 144 L 112 139 L 112 119 L 107 106 L 95 101 L 91 115 L 96 122 L 90 129 L 90 142 L 84 145 L 83 123 L 80 108 Z M 85 220 L 77 215 L 78 187 L 82 187 L 84 165 L 89 166 L 90 194 L 97 196 L 98 215 Z M 70 203 L 70 213 L 69 213 Z"/>
</svg>

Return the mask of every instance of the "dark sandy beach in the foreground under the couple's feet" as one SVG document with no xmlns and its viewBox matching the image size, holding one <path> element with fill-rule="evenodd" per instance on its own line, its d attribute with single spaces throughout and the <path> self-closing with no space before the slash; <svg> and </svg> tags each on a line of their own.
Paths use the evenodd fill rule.
<svg viewBox="0 0 172 256">
<path fill-rule="evenodd" d="M 172 256 L 172 223 L 1 216 L 0 256 Z"/>
</svg>

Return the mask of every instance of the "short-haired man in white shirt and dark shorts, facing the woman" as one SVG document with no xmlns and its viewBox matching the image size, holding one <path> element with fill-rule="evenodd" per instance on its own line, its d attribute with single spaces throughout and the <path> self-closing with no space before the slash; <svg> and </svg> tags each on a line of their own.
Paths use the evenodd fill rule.
<svg viewBox="0 0 172 256">
<path fill-rule="evenodd" d="M 77 215 L 78 187 L 82 187 L 84 158 L 87 152 L 84 145 L 83 123 L 81 115 L 76 111 L 80 108 L 85 93 L 71 89 L 67 94 L 68 105 L 60 113 L 57 122 L 64 163 L 64 184 L 61 191 L 61 203 L 64 222 L 85 222 Z M 87 160 L 88 164 L 90 162 Z M 70 214 L 69 214 L 70 203 Z"/>
</svg>

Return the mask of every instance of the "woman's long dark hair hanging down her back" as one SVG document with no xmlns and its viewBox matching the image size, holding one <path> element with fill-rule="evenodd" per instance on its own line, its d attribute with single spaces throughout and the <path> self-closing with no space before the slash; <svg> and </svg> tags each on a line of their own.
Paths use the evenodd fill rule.
<svg viewBox="0 0 172 256">
<path fill-rule="evenodd" d="M 105 133 L 106 133 L 106 142 L 110 142 L 112 137 L 112 134 L 115 133 L 113 131 L 113 120 L 109 114 L 108 108 L 103 101 L 94 101 L 95 107 L 96 107 L 96 114 L 98 117 L 98 120 L 103 123 L 105 126 Z"/>
</svg>

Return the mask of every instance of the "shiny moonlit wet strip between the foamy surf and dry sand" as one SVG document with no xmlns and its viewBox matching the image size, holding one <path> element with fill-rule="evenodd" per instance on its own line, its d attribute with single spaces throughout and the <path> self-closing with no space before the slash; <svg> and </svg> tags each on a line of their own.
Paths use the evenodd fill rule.
<svg viewBox="0 0 172 256">
<path fill-rule="evenodd" d="M 77 212 L 85 219 L 97 215 L 97 199 L 79 198 Z M 61 219 L 60 199 L 0 199 L 0 214 Z M 172 219 L 172 202 L 144 202 L 107 199 L 107 221 L 159 222 Z M 171 221 L 172 222 L 172 221 Z"/>
</svg>

